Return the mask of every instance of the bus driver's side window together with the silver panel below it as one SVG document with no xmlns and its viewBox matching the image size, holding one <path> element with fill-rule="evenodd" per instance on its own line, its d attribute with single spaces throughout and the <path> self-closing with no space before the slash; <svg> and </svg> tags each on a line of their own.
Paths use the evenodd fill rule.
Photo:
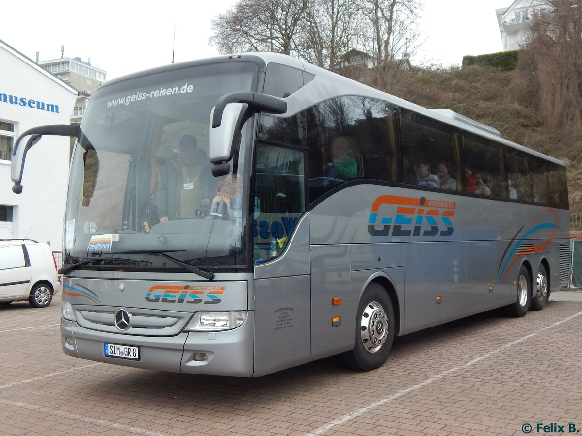
<svg viewBox="0 0 582 436">
<path fill-rule="evenodd" d="M 255 159 L 254 373 L 310 360 L 311 277 L 304 152 L 259 143 Z"/>
</svg>

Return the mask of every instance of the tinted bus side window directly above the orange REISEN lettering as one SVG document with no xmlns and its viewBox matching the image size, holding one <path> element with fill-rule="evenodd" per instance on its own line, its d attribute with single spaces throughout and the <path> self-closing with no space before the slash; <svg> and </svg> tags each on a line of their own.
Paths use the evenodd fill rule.
<svg viewBox="0 0 582 436">
<path fill-rule="evenodd" d="M 404 183 L 461 190 L 459 133 L 447 124 L 405 111 L 400 117 Z"/>
</svg>

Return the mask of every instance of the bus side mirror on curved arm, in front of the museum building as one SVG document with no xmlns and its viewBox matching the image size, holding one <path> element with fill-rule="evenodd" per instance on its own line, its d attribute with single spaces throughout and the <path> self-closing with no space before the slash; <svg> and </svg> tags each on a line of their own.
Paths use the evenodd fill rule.
<svg viewBox="0 0 582 436">
<path fill-rule="evenodd" d="M 58 135 L 78 138 L 80 127 L 77 124 L 52 124 L 50 126 L 33 127 L 25 131 L 16 140 L 14 151 L 12 152 L 12 162 L 10 162 L 10 177 L 14 182 L 12 192 L 22 193 L 22 173 L 24 171 L 24 160 L 30 148 L 35 145 L 42 135 Z M 26 140 L 25 143 L 25 139 Z"/>
</svg>

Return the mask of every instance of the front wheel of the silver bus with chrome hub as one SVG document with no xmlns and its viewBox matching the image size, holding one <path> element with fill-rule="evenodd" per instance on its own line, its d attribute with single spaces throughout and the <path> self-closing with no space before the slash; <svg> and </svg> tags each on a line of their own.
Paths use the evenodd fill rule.
<svg viewBox="0 0 582 436">
<path fill-rule="evenodd" d="M 356 317 L 356 344 L 344 353 L 346 365 L 359 371 L 382 366 L 394 340 L 394 309 L 381 285 L 370 283 L 364 290 Z"/>
</svg>

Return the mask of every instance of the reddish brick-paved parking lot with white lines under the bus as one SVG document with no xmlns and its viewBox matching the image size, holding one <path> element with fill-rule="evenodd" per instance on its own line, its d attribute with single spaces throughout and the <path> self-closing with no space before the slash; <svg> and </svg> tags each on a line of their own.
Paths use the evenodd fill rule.
<svg viewBox="0 0 582 436">
<path fill-rule="evenodd" d="M 478 436 L 523 435 L 526 423 L 531 434 L 559 434 L 557 427 L 538 433 L 537 423 L 566 433 L 569 423 L 582 428 L 582 302 L 550 301 L 523 319 L 489 312 L 398 338 L 388 362 L 370 373 L 325 359 L 255 379 L 65 356 L 59 309 L 59 296 L 46 309 L 0 306 L 2 435 Z"/>
</svg>

